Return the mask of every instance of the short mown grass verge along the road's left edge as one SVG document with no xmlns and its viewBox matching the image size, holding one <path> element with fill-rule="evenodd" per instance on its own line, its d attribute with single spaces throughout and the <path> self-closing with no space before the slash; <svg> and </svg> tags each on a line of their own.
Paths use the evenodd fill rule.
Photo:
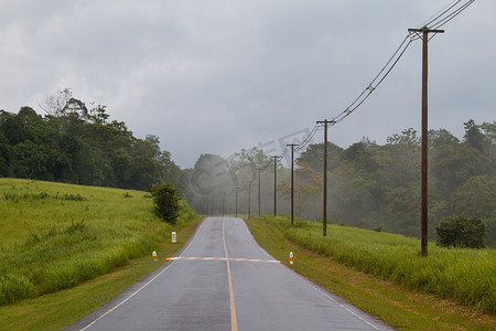
<svg viewBox="0 0 496 331">
<path fill-rule="evenodd" d="M 177 244 L 168 241 L 154 246 L 158 263 L 152 261 L 150 252 L 74 288 L 0 307 L 0 330 L 61 330 L 78 321 L 166 263 L 166 257 L 174 256 L 186 244 L 200 221 L 196 217 L 179 228 Z"/>
</svg>

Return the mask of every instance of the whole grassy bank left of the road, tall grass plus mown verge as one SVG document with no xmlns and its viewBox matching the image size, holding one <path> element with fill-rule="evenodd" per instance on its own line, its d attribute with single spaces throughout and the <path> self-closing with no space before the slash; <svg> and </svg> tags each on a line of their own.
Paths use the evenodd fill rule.
<svg viewBox="0 0 496 331">
<path fill-rule="evenodd" d="M 200 221 L 183 203 L 173 228 L 145 192 L 13 179 L 0 179 L 0 211 L 2 330 L 76 321 L 159 267 L 151 252 L 172 256 L 182 245 L 171 232 L 184 244 Z"/>
</svg>

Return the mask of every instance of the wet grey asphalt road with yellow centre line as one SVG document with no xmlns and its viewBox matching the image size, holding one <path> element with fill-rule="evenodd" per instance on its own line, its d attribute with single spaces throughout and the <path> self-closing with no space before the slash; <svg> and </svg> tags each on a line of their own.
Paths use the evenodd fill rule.
<svg viewBox="0 0 496 331">
<path fill-rule="evenodd" d="M 242 220 L 209 217 L 176 259 L 67 330 L 390 329 L 276 261 Z"/>
</svg>

